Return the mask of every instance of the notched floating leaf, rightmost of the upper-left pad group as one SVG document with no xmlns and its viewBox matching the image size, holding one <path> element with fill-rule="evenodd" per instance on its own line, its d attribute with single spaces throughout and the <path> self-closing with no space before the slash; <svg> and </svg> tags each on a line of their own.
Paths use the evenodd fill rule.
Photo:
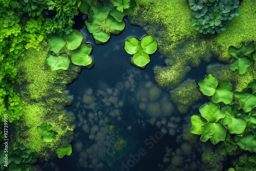
<svg viewBox="0 0 256 171">
<path fill-rule="evenodd" d="M 92 63 L 93 59 L 89 55 L 92 51 L 92 47 L 82 45 L 79 51 L 75 51 L 71 55 L 71 61 L 78 66 L 88 66 Z"/>
</svg>

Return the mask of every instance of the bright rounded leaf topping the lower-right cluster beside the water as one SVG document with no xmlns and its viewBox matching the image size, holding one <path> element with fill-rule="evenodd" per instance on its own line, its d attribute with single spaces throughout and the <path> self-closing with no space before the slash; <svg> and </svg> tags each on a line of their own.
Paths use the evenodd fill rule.
<svg viewBox="0 0 256 171">
<path fill-rule="evenodd" d="M 199 108 L 201 116 L 205 118 L 208 122 L 218 122 L 221 118 L 224 117 L 223 111 L 220 109 L 220 105 L 217 103 L 207 103 Z"/>
</svg>

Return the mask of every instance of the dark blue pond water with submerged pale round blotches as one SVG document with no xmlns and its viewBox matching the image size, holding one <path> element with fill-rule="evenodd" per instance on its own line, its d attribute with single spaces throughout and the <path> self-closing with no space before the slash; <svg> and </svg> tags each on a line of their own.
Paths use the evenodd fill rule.
<svg viewBox="0 0 256 171">
<path fill-rule="evenodd" d="M 93 45 L 94 67 L 82 69 L 67 88 L 74 97 L 66 108 L 75 116 L 73 153 L 39 162 L 35 170 L 200 170 L 207 143 L 191 145 L 183 141 L 182 133 L 207 99 L 197 102 L 186 116 L 178 113 L 168 92 L 154 79 L 153 69 L 164 67 L 165 57 L 158 51 L 150 55 L 144 70 L 131 65 L 124 41 L 146 33 L 129 20 L 125 19 L 124 31 L 104 45 L 95 45 L 86 28 L 81 31 Z M 202 80 L 207 66 L 202 62 L 186 78 Z"/>
</svg>

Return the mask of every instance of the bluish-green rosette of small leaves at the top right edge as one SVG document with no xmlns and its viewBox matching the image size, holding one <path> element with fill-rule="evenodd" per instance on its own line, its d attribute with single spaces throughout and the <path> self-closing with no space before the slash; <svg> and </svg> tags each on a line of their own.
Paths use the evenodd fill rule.
<svg viewBox="0 0 256 171">
<path fill-rule="evenodd" d="M 192 25 L 200 33 L 220 33 L 229 20 L 238 16 L 239 0 L 188 0 L 192 11 Z"/>
</svg>

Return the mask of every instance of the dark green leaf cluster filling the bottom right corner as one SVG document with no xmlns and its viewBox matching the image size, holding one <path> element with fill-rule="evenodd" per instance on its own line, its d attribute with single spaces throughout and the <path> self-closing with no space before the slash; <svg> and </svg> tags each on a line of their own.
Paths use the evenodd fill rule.
<svg viewBox="0 0 256 171">
<path fill-rule="evenodd" d="M 256 170 L 256 154 L 247 157 L 246 155 L 239 157 L 239 162 L 233 163 L 234 168 L 229 168 L 228 171 L 255 171 Z"/>
</svg>

